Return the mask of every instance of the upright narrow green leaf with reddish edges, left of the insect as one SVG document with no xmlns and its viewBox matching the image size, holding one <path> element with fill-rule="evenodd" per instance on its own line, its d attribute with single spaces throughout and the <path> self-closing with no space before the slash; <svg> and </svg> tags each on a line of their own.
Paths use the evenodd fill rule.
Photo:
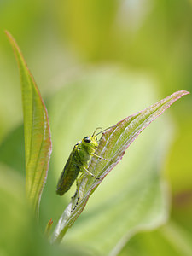
<svg viewBox="0 0 192 256">
<path fill-rule="evenodd" d="M 49 168 L 51 140 L 44 101 L 15 39 L 6 32 L 20 69 L 26 159 L 26 197 L 36 216 Z"/>
</svg>

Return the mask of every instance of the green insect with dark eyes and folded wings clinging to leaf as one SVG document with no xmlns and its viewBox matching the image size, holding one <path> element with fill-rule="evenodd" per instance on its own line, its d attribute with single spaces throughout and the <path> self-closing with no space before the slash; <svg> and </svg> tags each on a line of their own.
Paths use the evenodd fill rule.
<svg viewBox="0 0 192 256">
<path fill-rule="evenodd" d="M 109 128 L 103 131 L 106 131 Z M 97 129 L 101 128 L 96 128 L 96 130 Z M 56 187 L 56 194 L 64 195 L 71 188 L 75 180 L 77 183 L 77 192 L 79 193 L 79 172 L 87 172 L 90 176 L 95 177 L 96 179 L 100 179 L 99 177 L 96 177 L 93 173 L 91 173 L 89 170 L 87 170 L 87 168 L 88 163 L 90 161 L 90 157 L 93 155 L 102 160 L 112 160 L 102 158 L 101 156 L 95 154 L 96 148 L 98 147 L 98 141 L 96 139 L 96 136 L 102 133 L 103 131 L 98 132 L 96 135 L 96 131 L 94 131 L 92 136 L 84 137 L 82 141 L 74 145 L 73 151 L 69 155 L 67 163 L 64 166 L 63 171 L 61 172 L 61 177 Z"/>
</svg>

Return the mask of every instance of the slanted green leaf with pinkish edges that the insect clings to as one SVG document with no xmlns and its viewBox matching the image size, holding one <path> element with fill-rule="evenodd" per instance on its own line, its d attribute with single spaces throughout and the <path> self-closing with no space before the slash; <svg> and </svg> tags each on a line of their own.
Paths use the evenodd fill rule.
<svg viewBox="0 0 192 256">
<path fill-rule="evenodd" d="M 99 147 L 96 150 L 96 154 L 101 155 L 104 158 L 113 158 L 113 162 L 98 160 L 96 157 L 92 157 L 89 171 L 94 173 L 97 177 L 101 177 L 102 179 L 106 177 L 108 172 L 110 172 L 119 162 L 119 160 L 122 159 L 123 155 L 125 154 L 125 149 L 131 145 L 131 143 L 136 139 L 141 131 L 143 131 L 143 129 L 145 129 L 154 119 L 160 116 L 160 114 L 162 114 L 166 108 L 169 108 L 173 102 L 177 101 L 177 99 L 188 93 L 189 92 L 187 91 L 177 91 L 171 96 L 168 96 L 160 102 L 150 106 L 149 108 L 146 108 L 141 112 L 133 114 L 126 119 L 119 121 L 117 125 L 114 125 L 111 129 L 104 132 L 100 140 Z M 143 180 L 140 180 L 140 183 L 143 183 Z M 80 200 L 78 207 L 73 210 L 73 207 L 77 202 L 77 198 L 74 197 L 67 206 L 66 210 L 63 212 L 55 228 L 52 237 L 53 242 L 61 241 L 67 229 L 71 227 L 74 221 L 79 217 L 79 214 L 83 211 L 90 195 L 95 191 L 100 183 L 101 180 L 96 180 L 86 174 L 81 178 L 79 181 Z M 158 189 L 158 182 L 152 183 L 152 188 L 150 189 L 149 193 L 152 197 L 154 195 L 153 191 L 156 189 Z M 133 205 L 131 206 L 133 208 L 134 203 L 136 204 L 136 201 L 133 200 Z M 122 212 L 119 212 L 119 218 L 121 218 L 121 214 Z M 142 218 L 142 216 L 140 216 L 140 218 Z M 133 227 L 134 225 L 131 228 Z"/>
</svg>

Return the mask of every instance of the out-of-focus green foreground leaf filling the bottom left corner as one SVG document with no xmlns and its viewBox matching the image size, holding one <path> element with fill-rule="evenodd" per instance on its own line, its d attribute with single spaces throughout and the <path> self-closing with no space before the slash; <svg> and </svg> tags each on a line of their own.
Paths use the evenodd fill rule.
<svg viewBox="0 0 192 256">
<path fill-rule="evenodd" d="M 27 207 L 25 179 L 0 163 L 0 255 L 90 256 L 81 247 L 52 247 Z M 49 223 L 50 224 L 50 223 Z M 47 235 L 47 234 L 46 234 Z M 92 254 L 91 254 L 92 255 Z"/>
</svg>

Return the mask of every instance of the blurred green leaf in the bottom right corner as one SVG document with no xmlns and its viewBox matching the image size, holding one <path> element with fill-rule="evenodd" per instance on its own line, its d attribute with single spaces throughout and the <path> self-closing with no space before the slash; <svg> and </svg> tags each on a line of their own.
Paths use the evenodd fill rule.
<svg viewBox="0 0 192 256">
<path fill-rule="evenodd" d="M 192 255 L 191 232 L 171 219 L 158 230 L 137 234 L 131 238 L 118 255 L 145 256 L 146 253 L 148 256 L 190 256 Z"/>
</svg>

